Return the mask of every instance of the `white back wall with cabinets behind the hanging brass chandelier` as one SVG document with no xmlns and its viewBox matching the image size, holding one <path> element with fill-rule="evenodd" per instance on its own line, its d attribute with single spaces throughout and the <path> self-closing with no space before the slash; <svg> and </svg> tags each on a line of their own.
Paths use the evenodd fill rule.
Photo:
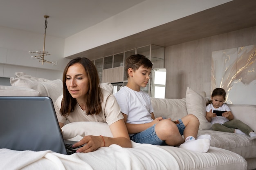
<svg viewBox="0 0 256 170">
<path fill-rule="evenodd" d="M 43 32 L 43 31 L 42 31 Z M 43 51 L 44 34 L 31 33 L 0 26 L 0 77 L 12 77 L 21 71 L 27 75 L 46 79 L 62 79 L 69 59 L 63 58 L 64 39 L 47 36 L 45 51 L 51 55 L 46 60 L 57 61 L 56 66 L 32 60 L 28 51 Z"/>
</svg>

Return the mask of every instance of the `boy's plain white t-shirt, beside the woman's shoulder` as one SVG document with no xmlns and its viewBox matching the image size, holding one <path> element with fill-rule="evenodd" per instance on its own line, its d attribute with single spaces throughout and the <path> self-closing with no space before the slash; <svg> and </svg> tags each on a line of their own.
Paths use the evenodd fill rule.
<svg viewBox="0 0 256 170">
<path fill-rule="evenodd" d="M 144 124 L 153 121 L 151 114 L 153 107 L 148 93 L 134 91 L 124 86 L 115 93 L 121 112 L 127 115 L 126 123 Z"/>
</svg>

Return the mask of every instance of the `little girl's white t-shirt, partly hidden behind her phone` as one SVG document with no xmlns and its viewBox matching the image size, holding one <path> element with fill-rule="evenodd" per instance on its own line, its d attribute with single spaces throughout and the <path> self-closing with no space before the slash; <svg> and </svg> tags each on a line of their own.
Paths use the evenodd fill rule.
<svg viewBox="0 0 256 170">
<path fill-rule="evenodd" d="M 213 110 L 231 111 L 229 106 L 227 106 L 226 104 L 222 104 L 222 106 L 220 106 L 218 108 L 214 108 L 212 104 L 208 104 L 206 106 L 206 111 L 209 112 L 210 110 L 211 110 L 211 112 L 213 112 Z M 224 124 L 227 121 L 229 121 L 229 119 L 227 117 L 216 116 L 211 119 L 211 124 Z"/>
</svg>

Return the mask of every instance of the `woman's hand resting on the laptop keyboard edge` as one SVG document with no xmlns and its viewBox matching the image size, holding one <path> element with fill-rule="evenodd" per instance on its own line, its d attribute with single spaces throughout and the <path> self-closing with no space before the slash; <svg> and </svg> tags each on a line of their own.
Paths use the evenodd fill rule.
<svg viewBox="0 0 256 170">
<path fill-rule="evenodd" d="M 74 147 L 84 145 L 83 147 L 76 150 L 76 152 L 93 152 L 94 150 L 97 150 L 100 147 L 104 146 L 104 141 L 101 136 L 85 136 L 81 141 L 74 144 Z"/>
</svg>

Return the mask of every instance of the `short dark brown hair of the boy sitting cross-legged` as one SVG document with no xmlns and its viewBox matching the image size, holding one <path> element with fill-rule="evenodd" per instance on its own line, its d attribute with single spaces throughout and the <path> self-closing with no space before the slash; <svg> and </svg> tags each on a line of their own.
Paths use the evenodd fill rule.
<svg viewBox="0 0 256 170">
<path fill-rule="evenodd" d="M 126 77 L 129 77 L 129 68 L 132 68 L 134 71 L 136 71 L 140 66 L 143 66 L 144 68 L 152 68 L 153 64 L 146 56 L 142 54 L 134 54 L 130 57 L 127 57 L 125 61 Z"/>
</svg>

